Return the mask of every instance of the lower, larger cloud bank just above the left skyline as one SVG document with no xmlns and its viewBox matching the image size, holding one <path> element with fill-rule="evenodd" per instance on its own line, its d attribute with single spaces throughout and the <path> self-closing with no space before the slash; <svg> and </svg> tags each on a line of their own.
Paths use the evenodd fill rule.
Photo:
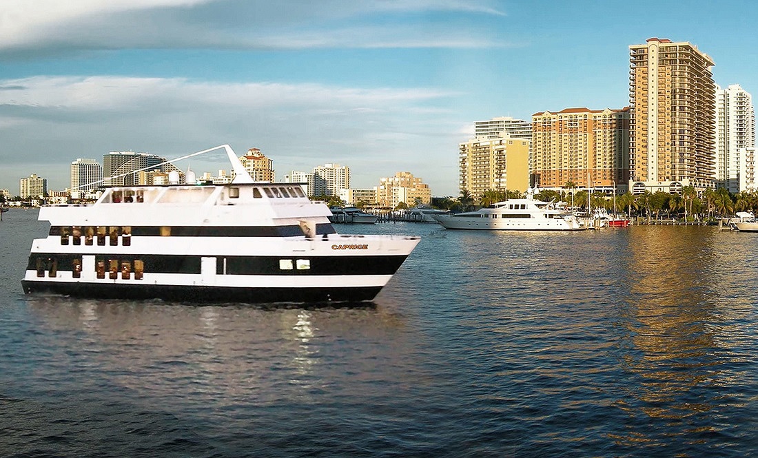
<svg viewBox="0 0 758 458">
<path fill-rule="evenodd" d="M 434 156 L 456 157 L 462 121 L 445 108 L 455 96 L 118 76 L 0 80 L 0 188 L 42 173 L 39 167 L 57 170 L 48 178 L 63 188 L 77 157 L 128 150 L 178 157 L 224 143 L 238 153 L 262 148 L 277 176 L 336 162 L 351 167 L 356 185 L 398 170 L 431 177 L 438 174 Z M 455 176 L 448 179 L 454 186 Z"/>
</svg>

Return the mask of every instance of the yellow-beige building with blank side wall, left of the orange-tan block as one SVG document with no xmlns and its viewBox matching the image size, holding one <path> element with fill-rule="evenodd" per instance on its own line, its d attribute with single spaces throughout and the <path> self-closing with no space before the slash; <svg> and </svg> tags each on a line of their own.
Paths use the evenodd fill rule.
<svg viewBox="0 0 758 458">
<path fill-rule="evenodd" d="M 526 192 L 529 188 L 528 139 L 478 137 L 459 144 L 459 188 L 473 198 L 490 189 Z"/>
</svg>

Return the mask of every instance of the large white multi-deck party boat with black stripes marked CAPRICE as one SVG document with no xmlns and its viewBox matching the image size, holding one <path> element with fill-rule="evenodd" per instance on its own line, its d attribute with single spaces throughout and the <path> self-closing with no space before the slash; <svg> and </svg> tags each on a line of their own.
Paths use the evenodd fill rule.
<svg viewBox="0 0 758 458">
<path fill-rule="evenodd" d="M 418 237 L 339 235 L 326 204 L 293 183 L 253 182 L 229 145 L 224 185 L 106 188 L 91 205 L 49 205 L 23 291 L 168 301 L 371 301 Z M 175 160 L 174 160 L 175 161 Z M 174 181 L 178 181 L 174 179 Z"/>
</svg>

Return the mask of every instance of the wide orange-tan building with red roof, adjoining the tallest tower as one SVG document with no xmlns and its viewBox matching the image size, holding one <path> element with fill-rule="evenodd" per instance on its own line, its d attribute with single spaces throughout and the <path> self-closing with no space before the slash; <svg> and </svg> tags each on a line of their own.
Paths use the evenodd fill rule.
<svg viewBox="0 0 758 458">
<path fill-rule="evenodd" d="M 624 191 L 629 179 L 629 118 L 629 107 L 533 114 L 533 182 L 548 189 L 572 182 L 579 188 Z"/>
</svg>

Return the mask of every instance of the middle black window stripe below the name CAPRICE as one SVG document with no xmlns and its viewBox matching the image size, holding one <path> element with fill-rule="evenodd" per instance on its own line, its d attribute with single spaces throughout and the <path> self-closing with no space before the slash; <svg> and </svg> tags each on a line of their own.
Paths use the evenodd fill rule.
<svg viewBox="0 0 758 458">
<path fill-rule="evenodd" d="M 51 261 L 57 260 L 56 268 L 61 272 L 71 272 L 74 260 L 81 260 L 81 254 L 33 253 L 29 257 L 27 270 L 40 268 L 49 271 Z M 134 260 L 142 260 L 145 273 L 200 273 L 199 256 L 169 255 L 169 254 L 95 254 L 95 265 L 99 261 L 105 263 L 108 270 L 109 260 L 117 260 L 117 265 Z M 275 275 L 275 276 L 314 276 L 314 275 L 392 275 L 406 260 L 406 255 L 387 256 L 218 256 L 216 257 L 217 275 Z M 309 269 L 296 268 L 283 270 L 281 260 L 292 260 L 292 266 L 297 260 L 308 260 Z"/>
</svg>

